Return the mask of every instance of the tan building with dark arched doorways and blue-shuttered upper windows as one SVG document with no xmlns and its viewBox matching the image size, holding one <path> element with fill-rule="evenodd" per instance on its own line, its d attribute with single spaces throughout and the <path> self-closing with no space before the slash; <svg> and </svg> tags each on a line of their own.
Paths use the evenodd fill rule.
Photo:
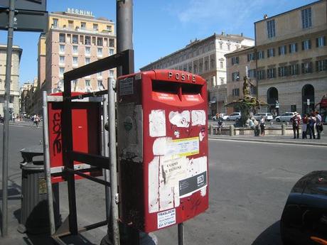
<svg viewBox="0 0 327 245">
<path fill-rule="evenodd" d="M 245 75 L 244 60 L 256 77 L 258 97 L 269 104 L 267 111 L 298 111 L 315 109 L 327 93 L 327 1 L 316 1 L 277 16 L 254 23 L 254 60 L 248 53 L 228 55 L 227 83 L 233 84 L 233 72 Z M 232 60 L 239 58 L 239 64 Z M 254 66 L 255 65 L 255 66 Z M 232 90 L 228 97 L 233 99 Z M 265 109 L 265 108 L 264 108 Z M 263 108 L 262 108 L 263 110 Z M 326 115 L 325 115 L 326 116 Z"/>
</svg>

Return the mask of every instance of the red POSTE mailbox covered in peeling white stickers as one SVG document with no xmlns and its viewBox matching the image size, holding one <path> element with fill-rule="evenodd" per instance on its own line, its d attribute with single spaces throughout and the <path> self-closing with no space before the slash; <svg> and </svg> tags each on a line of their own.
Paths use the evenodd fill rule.
<svg viewBox="0 0 327 245">
<path fill-rule="evenodd" d="M 119 215 L 153 232 L 208 209 L 207 86 L 153 70 L 119 77 Z"/>
</svg>

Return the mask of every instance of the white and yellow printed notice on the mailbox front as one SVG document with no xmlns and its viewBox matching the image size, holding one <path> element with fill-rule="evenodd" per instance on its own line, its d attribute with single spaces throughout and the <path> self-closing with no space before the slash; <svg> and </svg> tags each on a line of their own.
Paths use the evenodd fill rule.
<svg viewBox="0 0 327 245">
<path fill-rule="evenodd" d="M 199 152 L 199 137 L 178 138 L 168 142 L 168 156 L 192 156 Z"/>
</svg>

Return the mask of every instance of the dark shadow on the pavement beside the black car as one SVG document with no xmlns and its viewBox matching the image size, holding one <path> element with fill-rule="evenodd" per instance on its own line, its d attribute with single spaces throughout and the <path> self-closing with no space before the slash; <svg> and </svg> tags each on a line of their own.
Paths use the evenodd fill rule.
<svg viewBox="0 0 327 245">
<path fill-rule="evenodd" d="M 275 222 L 265 229 L 251 245 L 282 245 L 279 224 L 279 221 Z"/>
</svg>

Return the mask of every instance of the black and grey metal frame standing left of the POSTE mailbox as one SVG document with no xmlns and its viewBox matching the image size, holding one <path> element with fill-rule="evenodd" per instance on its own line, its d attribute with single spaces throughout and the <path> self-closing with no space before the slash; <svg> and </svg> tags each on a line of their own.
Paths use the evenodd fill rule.
<svg viewBox="0 0 327 245">
<path fill-rule="evenodd" d="M 134 72 L 134 50 L 125 50 L 121 53 L 111 55 L 102 60 L 97 60 L 88 65 L 78 67 L 75 70 L 70 70 L 64 74 L 64 92 L 63 97 L 60 100 L 63 103 L 62 117 L 65 119 L 62 121 L 62 141 L 63 141 L 63 171 L 56 173 L 65 178 L 68 183 L 68 202 L 69 202 L 69 215 L 68 219 L 55 230 L 55 221 L 53 213 L 53 193 L 51 184 L 51 168 L 50 168 L 50 153 L 49 153 L 49 131 L 48 131 L 48 102 L 56 100 L 54 97 L 50 97 L 43 92 L 43 149 L 45 160 L 45 178 L 48 190 L 48 212 L 50 218 L 50 235 L 58 244 L 65 244 L 60 239 L 62 236 L 77 235 L 80 232 L 85 232 L 90 229 L 104 226 L 108 224 L 109 220 L 112 224 L 109 227 L 112 229 L 112 242 L 114 245 L 119 245 L 119 224 L 118 224 L 118 202 L 117 202 L 117 156 L 116 156 L 116 117 L 115 117 L 115 101 L 114 101 L 114 81 L 113 78 L 109 79 L 108 90 L 99 92 L 91 92 L 87 94 L 80 94 L 72 96 L 71 94 L 71 81 L 78 78 L 92 75 L 97 72 L 109 70 L 114 67 L 122 69 L 122 75 L 127 75 Z M 108 94 L 108 96 L 106 96 Z M 84 99 L 87 97 L 101 97 L 102 102 L 108 100 L 107 108 L 103 111 L 103 120 L 107 120 L 107 114 L 110 115 L 109 120 L 109 152 L 107 148 L 108 137 L 104 130 L 104 156 L 99 156 L 90 153 L 81 153 L 73 151 L 73 131 L 72 131 L 72 101 L 76 103 L 76 100 Z M 106 99 L 107 97 L 107 99 Z M 58 101 L 58 99 L 57 99 Z M 105 104 L 105 103 L 104 103 Z M 104 106 L 105 107 L 105 106 Z M 103 124 L 104 126 L 104 124 Z M 91 165 L 91 168 L 76 170 L 74 169 L 74 161 L 86 163 Z M 86 175 L 86 171 L 92 171 L 95 168 L 104 169 L 104 180 Z M 109 178 L 110 174 L 110 178 Z M 77 227 L 77 210 L 76 210 L 76 192 L 75 192 L 75 175 L 79 175 L 82 178 L 95 181 L 106 187 L 106 220 L 95 224 L 90 224 L 85 227 Z M 110 180 L 110 183 L 109 183 Z M 110 188 L 109 188 L 110 187 Z M 109 195 L 110 193 L 110 195 Z M 110 202 L 110 200 L 112 202 Z M 110 207 L 110 219 L 109 210 Z"/>
</svg>

